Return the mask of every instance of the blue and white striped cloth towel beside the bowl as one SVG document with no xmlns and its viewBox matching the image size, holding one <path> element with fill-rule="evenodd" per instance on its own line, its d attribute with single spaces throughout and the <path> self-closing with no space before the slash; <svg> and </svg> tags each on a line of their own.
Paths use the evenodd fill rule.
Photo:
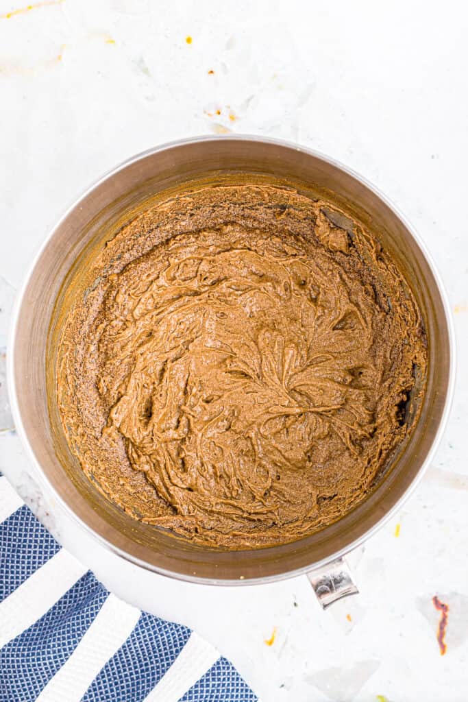
<svg viewBox="0 0 468 702">
<path fill-rule="evenodd" d="M 255 702 L 185 626 L 119 600 L 0 475 L 0 702 Z"/>
</svg>

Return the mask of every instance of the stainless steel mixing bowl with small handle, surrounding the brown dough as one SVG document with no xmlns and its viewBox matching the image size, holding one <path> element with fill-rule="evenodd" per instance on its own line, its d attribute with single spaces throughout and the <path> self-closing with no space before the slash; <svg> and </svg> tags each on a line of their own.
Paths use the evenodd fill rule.
<svg viewBox="0 0 468 702">
<path fill-rule="evenodd" d="M 53 399 L 50 415 L 47 402 L 47 373 L 53 373 L 54 364 L 51 338 L 60 331 L 56 329 L 55 301 L 69 270 L 76 270 L 80 262 L 83 265 L 86 247 L 96 237 L 108 236 L 112 227 L 131 218 L 155 193 L 183 187 L 200 176 L 210 174 L 216 179 L 227 173 L 260 173 L 293 181 L 298 187 L 333 192 L 335 199 L 372 227 L 406 272 L 429 339 L 427 391 L 420 418 L 373 494 L 317 534 L 275 548 L 240 552 L 201 548 L 141 524 L 116 508 L 84 477 L 65 442 Z M 16 427 L 29 456 L 67 511 L 107 548 L 145 568 L 192 582 L 259 583 L 313 569 L 312 583 L 316 589 L 328 590 L 333 599 L 334 589 L 352 588 L 337 559 L 372 536 L 401 508 L 434 454 L 453 389 L 453 354 L 450 312 L 434 265 L 410 225 L 375 188 L 303 147 L 254 137 L 194 138 L 156 147 L 126 161 L 65 213 L 36 257 L 20 293 L 8 382 Z M 332 577 L 327 579 L 323 574 L 330 569 Z"/>
</svg>

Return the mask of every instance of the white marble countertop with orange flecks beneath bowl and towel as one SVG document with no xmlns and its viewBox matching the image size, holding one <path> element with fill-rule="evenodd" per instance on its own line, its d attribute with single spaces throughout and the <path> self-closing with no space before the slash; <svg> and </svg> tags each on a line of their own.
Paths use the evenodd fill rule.
<svg viewBox="0 0 468 702">
<path fill-rule="evenodd" d="M 123 562 L 39 489 L 15 432 L 0 437 L 0 470 L 53 534 L 117 595 L 217 645 L 264 702 L 467 699 L 467 19 L 428 0 L 0 0 L 0 346 L 14 291 L 76 194 L 188 135 L 278 136 L 351 166 L 408 216 L 446 283 L 459 356 L 448 430 L 398 517 L 349 556 L 361 594 L 326 612 L 305 577 L 213 588 Z M 445 656 L 434 595 L 450 607 Z"/>
</svg>

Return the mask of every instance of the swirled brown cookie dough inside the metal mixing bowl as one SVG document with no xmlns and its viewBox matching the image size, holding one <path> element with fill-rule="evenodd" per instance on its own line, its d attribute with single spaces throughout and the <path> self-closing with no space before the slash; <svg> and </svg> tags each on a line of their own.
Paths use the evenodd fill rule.
<svg viewBox="0 0 468 702">
<path fill-rule="evenodd" d="M 206 545 L 293 541 L 356 506 L 408 435 L 420 311 L 370 232 L 272 185 L 156 204 L 95 253 L 60 341 L 83 471 Z"/>
</svg>

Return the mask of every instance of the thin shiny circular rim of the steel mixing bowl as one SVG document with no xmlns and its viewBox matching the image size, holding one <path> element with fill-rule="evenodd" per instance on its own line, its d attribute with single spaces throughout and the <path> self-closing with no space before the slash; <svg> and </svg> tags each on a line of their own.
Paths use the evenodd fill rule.
<svg viewBox="0 0 468 702">
<path fill-rule="evenodd" d="M 258 142 L 258 143 L 263 143 L 265 145 L 274 145 L 274 146 L 279 146 L 279 147 L 284 147 L 289 150 L 295 150 L 297 152 L 302 152 L 304 154 L 307 154 L 311 157 L 314 157 L 316 159 L 319 159 L 326 164 L 332 166 L 333 168 L 337 168 L 339 171 L 344 172 L 347 174 L 347 176 L 351 176 L 354 178 L 358 183 L 366 187 L 371 193 L 377 197 L 377 199 L 380 199 L 383 204 L 385 204 L 392 213 L 398 218 L 403 226 L 406 228 L 408 233 L 413 237 L 415 240 L 417 246 L 419 247 L 420 251 L 422 251 L 422 255 L 424 256 L 427 265 L 429 266 L 429 270 L 432 272 L 432 275 L 434 276 L 434 281 L 436 283 L 437 290 L 439 292 L 439 295 L 441 297 L 442 305 L 443 305 L 443 312 L 445 314 L 445 321 L 447 324 L 447 329 L 448 329 L 448 352 L 450 354 L 450 359 L 449 359 L 449 368 L 448 368 L 448 385 L 447 385 L 447 392 L 446 392 L 446 398 L 443 406 L 443 410 L 441 413 L 441 419 L 439 421 L 439 425 L 437 427 L 436 433 L 434 435 L 434 438 L 432 439 L 432 443 L 429 446 L 429 450 L 427 451 L 426 457 L 424 458 L 424 462 L 421 465 L 420 470 L 417 472 L 415 475 L 413 481 L 410 483 L 408 488 L 403 492 L 401 497 L 394 503 L 392 508 L 387 510 L 385 512 L 385 515 L 383 515 L 375 524 L 373 524 L 370 529 L 365 531 L 363 534 L 361 534 L 358 538 L 356 538 L 352 543 L 349 543 L 345 545 L 343 548 L 335 552 L 332 556 L 330 557 L 325 557 L 321 559 L 321 561 L 315 562 L 310 564 L 309 566 L 304 566 L 300 567 L 298 569 L 293 569 L 290 571 L 284 571 L 278 574 L 273 574 L 269 576 L 262 576 L 260 578 L 241 578 L 241 579 L 236 579 L 236 578 L 206 578 L 206 577 L 201 577 L 201 576 L 195 576 L 195 575 L 189 575 L 189 574 L 181 574 L 177 573 L 175 571 L 163 569 L 161 567 L 157 567 L 156 565 L 149 564 L 145 561 L 142 561 L 138 557 L 132 556 L 130 553 L 128 553 L 125 550 L 122 550 L 118 546 L 114 545 L 113 543 L 110 543 L 107 541 L 107 538 L 105 536 L 102 536 L 101 534 L 98 534 L 92 527 L 90 527 L 81 517 L 76 515 L 72 507 L 63 499 L 60 494 L 58 494 L 58 491 L 55 490 L 55 487 L 53 484 L 49 481 L 46 472 L 41 466 L 41 463 L 39 460 L 36 458 L 36 455 L 34 453 L 34 449 L 32 449 L 32 446 L 29 442 L 29 438 L 27 437 L 27 432 L 25 430 L 25 427 L 22 423 L 22 418 L 21 418 L 21 413 L 20 413 L 20 408 L 19 408 L 19 403 L 18 403 L 18 396 L 17 396 L 17 389 L 16 389 L 16 384 L 15 384 L 15 344 L 16 344 L 16 337 L 18 333 L 18 319 L 20 316 L 20 311 L 22 308 L 22 301 L 25 296 L 25 293 L 27 291 L 27 287 L 29 285 L 30 279 L 32 278 L 32 275 L 34 273 L 34 270 L 36 269 L 36 265 L 39 263 L 39 260 L 41 259 L 42 253 L 48 246 L 49 242 L 51 239 L 53 239 L 55 232 L 57 232 L 60 229 L 60 226 L 62 223 L 65 222 L 67 217 L 73 213 L 73 211 L 80 206 L 80 203 L 86 199 L 88 194 L 91 194 L 93 190 L 95 190 L 97 187 L 102 185 L 102 183 L 105 183 L 106 180 L 109 180 L 109 178 L 112 178 L 112 176 L 115 176 L 116 173 L 119 173 L 123 171 L 125 168 L 128 166 L 131 166 L 132 164 L 135 164 L 136 162 L 145 159 L 146 157 L 153 156 L 155 154 L 158 154 L 160 152 L 166 151 L 166 150 L 171 150 L 176 147 L 184 146 L 184 145 L 189 145 L 192 143 L 201 143 L 201 142 L 220 142 L 220 141 L 229 141 L 229 140 L 234 140 L 234 141 L 250 141 L 250 142 Z M 20 439 L 22 440 L 23 446 L 25 446 L 27 456 L 28 458 L 32 461 L 32 464 L 36 468 L 36 476 L 39 477 L 39 482 L 41 485 L 46 487 L 46 491 L 48 491 L 50 494 L 53 495 L 55 500 L 60 503 L 60 506 L 62 507 L 63 510 L 67 513 L 67 515 L 76 523 L 79 524 L 81 528 L 86 531 L 87 534 L 92 536 L 100 545 L 102 545 L 104 548 L 107 550 L 111 551 L 112 553 L 119 555 L 123 559 L 127 560 L 128 562 L 131 562 L 135 565 L 138 565 L 146 570 L 156 572 L 160 575 L 169 577 L 169 578 L 175 578 L 180 581 L 185 581 L 185 582 L 191 582 L 191 583 L 198 583 L 198 584 L 203 584 L 203 585 L 254 585 L 254 584 L 259 584 L 259 583 L 272 583 L 276 581 L 281 581 L 286 578 L 293 578 L 295 576 L 300 576 L 302 574 L 306 574 L 307 572 L 314 570 L 314 569 L 319 569 L 325 567 L 327 564 L 330 564 L 333 562 L 335 559 L 338 559 L 340 557 L 345 556 L 347 553 L 350 551 L 354 550 L 355 548 L 358 548 L 359 545 L 364 543 L 365 541 L 368 540 L 368 538 L 371 538 L 374 534 L 377 533 L 377 531 L 380 531 L 382 527 L 387 524 L 387 522 L 392 519 L 396 515 L 399 510 L 401 510 L 401 506 L 403 503 L 405 503 L 408 498 L 413 494 L 413 491 L 417 488 L 417 485 L 420 484 L 420 481 L 422 480 L 422 477 L 424 476 L 424 473 L 426 472 L 429 464 L 432 461 L 432 458 L 434 458 L 434 454 L 436 453 L 436 450 L 441 442 L 441 437 L 443 435 L 443 432 L 446 429 L 446 425 L 448 423 L 448 417 L 450 415 L 450 407 L 453 401 L 453 392 L 455 388 L 455 368 L 456 368 L 456 359 L 455 359 L 455 331 L 453 328 L 453 317 L 450 312 L 450 305 L 448 303 L 448 296 L 445 290 L 445 287 L 443 285 L 441 275 L 439 274 L 439 271 L 437 270 L 437 267 L 434 263 L 434 260 L 427 250 L 427 246 L 424 244 L 424 241 L 420 238 L 419 234 L 415 231 L 415 228 L 413 225 L 410 224 L 406 216 L 403 215 L 403 213 L 399 210 L 399 208 L 391 201 L 389 198 L 380 192 L 380 190 L 373 184 L 370 183 L 369 180 L 367 180 L 365 177 L 361 176 L 361 174 L 356 173 L 352 168 L 349 168 L 349 166 L 345 166 L 345 164 L 340 163 L 340 161 L 337 161 L 336 159 L 333 159 L 331 157 L 328 157 L 326 154 L 322 154 L 319 151 L 316 151 L 314 149 L 311 149 L 309 147 L 303 146 L 303 145 L 298 145 L 297 143 L 292 143 L 287 140 L 283 139 L 278 139 L 278 138 L 266 138 L 266 137 L 259 137 L 257 135 L 249 135 L 249 134 L 229 134 L 229 135 L 200 135 L 200 136 L 194 136 L 194 137 L 188 137 L 184 139 L 178 139 L 178 140 L 173 140 L 168 143 L 164 143 L 161 145 L 158 145 L 156 147 L 152 147 L 150 149 L 147 149 L 143 152 L 140 152 L 139 154 L 135 154 L 133 157 L 126 159 L 125 161 L 122 161 L 121 164 L 118 166 L 115 166 L 114 168 L 110 169 L 105 173 L 104 175 L 100 176 L 97 180 L 95 180 L 91 185 L 89 185 L 86 190 L 81 192 L 79 197 L 76 197 L 72 204 L 67 207 L 65 212 L 62 214 L 62 216 L 58 219 L 57 223 L 52 227 L 51 231 L 47 234 L 45 237 L 44 241 L 42 242 L 41 246 L 39 247 L 39 250 L 36 252 L 36 255 L 34 256 L 32 263 L 29 265 L 27 274 L 25 275 L 25 278 L 23 279 L 22 285 L 20 286 L 20 290 L 18 291 L 17 298 L 15 300 L 15 305 L 13 307 L 13 313 L 11 317 L 11 326 L 10 326 L 10 333 L 9 333 L 9 338 L 8 338 L 8 350 L 13 350 L 12 353 L 7 353 L 7 387 L 8 387 L 8 395 L 10 397 L 10 402 L 11 402 L 11 411 L 13 414 L 13 420 L 15 423 L 15 429 L 18 432 L 18 435 L 20 435 Z M 35 477 L 36 477 L 35 476 Z"/>
</svg>

